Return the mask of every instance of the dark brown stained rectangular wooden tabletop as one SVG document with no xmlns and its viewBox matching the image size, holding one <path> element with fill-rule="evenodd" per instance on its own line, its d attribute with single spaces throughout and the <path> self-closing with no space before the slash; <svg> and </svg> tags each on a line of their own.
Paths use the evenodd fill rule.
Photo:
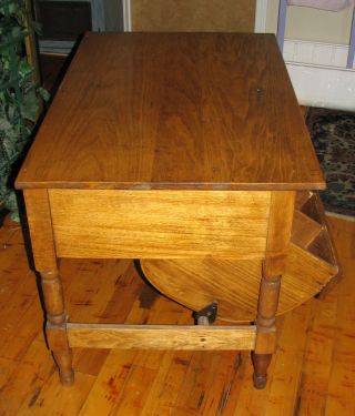
<svg viewBox="0 0 355 416">
<path fill-rule="evenodd" d="M 323 174 L 274 35 L 88 33 L 17 187 L 300 190 Z"/>
</svg>

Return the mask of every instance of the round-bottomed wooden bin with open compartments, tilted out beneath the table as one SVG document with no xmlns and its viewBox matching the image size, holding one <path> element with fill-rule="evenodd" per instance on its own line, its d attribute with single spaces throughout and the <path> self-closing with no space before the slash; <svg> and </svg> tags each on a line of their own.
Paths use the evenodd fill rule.
<svg viewBox="0 0 355 416">
<path fill-rule="evenodd" d="M 301 199 L 302 196 L 300 195 Z M 303 202 L 300 197 L 293 221 L 292 241 L 287 244 L 288 237 L 281 241 L 286 244 L 286 250 L 283 256 L 285 262 L 277 315 L 310 300 L 334 278 L 337 281 L 339 271 L 318 195 L 310 194 Z M 312 215 L 318 221 L 301 211 L 307 211 L 310 197 L 317 202 L 316 211 L 313 211 Z M 322 243 L 315 245 L 314 242 L 320 239 Z M 322 246 L 322 250 L 318 246 Z M 329 255 L 325 255 L 326 253 Z M 256 317 L 262 278 L 261 260 L 222 260 L 215 255 L 204 260 L 146 258 L 141 261 L 141 265 L 145 276 L 159 291 L 194 311 L 217 301 L 221 319 L 251 322 Z M 280 262 L 277 270 L 278 267 Z"/>
</svg>

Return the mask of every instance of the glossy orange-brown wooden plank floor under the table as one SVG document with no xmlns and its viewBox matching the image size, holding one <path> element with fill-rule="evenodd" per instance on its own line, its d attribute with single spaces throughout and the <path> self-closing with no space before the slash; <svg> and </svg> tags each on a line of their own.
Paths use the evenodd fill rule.
<svg viewBox="0 0 355 416">
<path fill-rule="evenodd" d="M 266 389 L 248 353 L 74 351 L 62 387 L 45 347 L 43 313 L 19 226 L 0 229 L 0 415 L 355 415 L 355 222 L 331 219 L 345 278 L 326 298 L 278 319 Z M 128 261 L 63 261 L 78 322 L 191 323 L 191 313 Z"/>
</svg>

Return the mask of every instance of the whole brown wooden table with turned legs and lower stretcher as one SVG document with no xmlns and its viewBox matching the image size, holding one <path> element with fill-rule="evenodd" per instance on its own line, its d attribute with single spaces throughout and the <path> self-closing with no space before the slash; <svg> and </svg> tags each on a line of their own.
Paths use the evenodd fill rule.
<svg viewBox="0 0 355 416">
<path fill-rule="evenodd" d="M 263 387 L 296 193 L 304 204 L 301 191 L 324 186 L 273 35 L 88 33 L 17 180 L 62 383 L 73 382 L 75 346 L 216 348 L 253 351 Z M 257 261 L 256 321 L 69 323 L 60 257 L 141 258 L 148 274 L 154 261 Z"/>
</svg>

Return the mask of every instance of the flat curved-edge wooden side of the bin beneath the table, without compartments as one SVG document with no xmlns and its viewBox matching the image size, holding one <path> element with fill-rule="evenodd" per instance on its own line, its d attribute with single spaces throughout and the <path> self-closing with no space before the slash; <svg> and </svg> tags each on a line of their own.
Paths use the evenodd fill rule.
<svg viewBox="0 0 355 416">
<path fill-rule="evenodd" d="M 286 254 L 277 315 L 321 292 L 337 272 L 295 244 L 291 244 Z M 237 323 L 256 318 L 260 261 L 143 260 L 141 263 L 145 276 L 159 291 L 194 311 L 217 301 L 221 319 Z"/>
</svg>

